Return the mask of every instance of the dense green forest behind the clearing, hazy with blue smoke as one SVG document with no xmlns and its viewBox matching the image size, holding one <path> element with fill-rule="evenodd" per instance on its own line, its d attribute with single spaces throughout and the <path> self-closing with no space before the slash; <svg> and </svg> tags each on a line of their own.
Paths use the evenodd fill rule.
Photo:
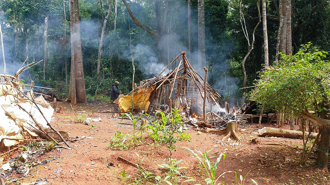
<svg viewBox="0 0 330 185">
<path fill-rule="evenodd" d="M 111 84 L 120 82 L 120 90 L 132 89 L 132 58 L 135 82 L 158 75 L 180 51 L 188 52 L 188 19 L 186 0 L 127 1 L 135 17 L 154 32 L 162 21 L 160 45 L 145 30 L 133 23 L 122 1 L 80 0 L 80 28 L 83 70 L 87 99 L 98 88 L 98 94 L 110 95 Z M 261 3 L 261 2 L 260 2 Z M 267 1 L 269 62 L 273 64 L 279 29 L 277 0 Z M 101 72 L 97 74 L 97 59 L 102 26 L 110 6 L 110 16 L 104 28 Z M 261 5 L 260 5 L 261 7 Z M 258 22 L 256 1 L 243 1 L 247 31 L 252 33 Z M 261 11 L 261 10 L 260 10 Z M 117 13 L 115 13 L 117 12 Z M 191 53 L 189 62 L 201 75 L 198 66 L 197 0 L 191 0 Z M 22 82 L 53 88 L 65 98 L 68 92 L 71 65 L 70 11 L 62 0 L 0 0 L 0 24 L 4 42 L 6 74 L 14 75 L 27 63 L 45 58 L 47 37 L 48 62 L 44 78 L 44 61 L 21 74 Z M 45 35 L 45 29 L 47 32 Z M 242 60 L 248 51 L 235 0 L 205 0 L 206 62 L 210 66 L 208 82 L 219 90 L 223 101 L 240 102 L 243 83 Z M 330 51 L 330 8 L 328 0 L 292 0 L 292 53 L 301 45 L 313 43 L 314 48 Z M 159 49 L 160 48 L 160 49 Z M 2 55 L 2 54 L 0 54 Z M 160 55 L 164 58 L 160 62 Z M 2 57 L 1 57 L 2 58 Z M 263 30 L 255 32 L 254 49 L 245 62 L 247 87 L 253 86 L 264 66 Z M 0 64 L 0 71 L 3 65 Z M 102 83 L 101 83 L 102 82 Z"/>
</svg>

